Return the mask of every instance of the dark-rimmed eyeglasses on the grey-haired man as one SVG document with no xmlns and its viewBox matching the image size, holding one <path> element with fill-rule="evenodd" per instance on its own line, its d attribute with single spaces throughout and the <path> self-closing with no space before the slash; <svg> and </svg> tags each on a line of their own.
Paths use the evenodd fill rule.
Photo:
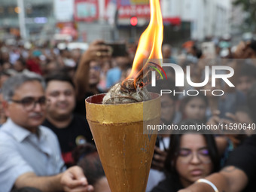
<svg viewBox="0 0 256 192">
<path fill-rule="evenodd" d="M 41 96 L 39 99 L 36 100 L 35 98 L 28 96 L 20 100 L 11 99 L 11 102 L 16 102 L 23 105 L 23 108 L 26 111 L 32 111 L 37 103 L 41 107 L 44 107 L 44 105 L 46 104 L 46 98 L 45 96 Z"/>
</svg>

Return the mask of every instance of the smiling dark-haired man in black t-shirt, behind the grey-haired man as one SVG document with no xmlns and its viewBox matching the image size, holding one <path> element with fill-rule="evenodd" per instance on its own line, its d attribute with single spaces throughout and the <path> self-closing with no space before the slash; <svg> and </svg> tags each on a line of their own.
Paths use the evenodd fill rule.
<svg viewBox="0 0 256 192">
<path fill-rule="evenodd" d="M 43 125 L 53 130 L 59 139 L 66 166 L 73 165 L 72 151 L 78 145 L 93 143 L 90 127 L 84 116 L 74 114 L 75 84 L 69 75 L 56 73 L 46 78 L 46 120 Z"/>
</svg>

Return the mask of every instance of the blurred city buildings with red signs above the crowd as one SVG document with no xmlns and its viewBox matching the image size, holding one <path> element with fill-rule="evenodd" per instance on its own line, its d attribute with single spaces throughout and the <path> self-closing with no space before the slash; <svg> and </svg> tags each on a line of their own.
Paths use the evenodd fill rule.
<svg viewBox="0 0 256 192">
<path fill-rule="evenodd" d="M 2 32 L 19 29 L 17 1 L 24 2 L 26 36 L 47 39 L 66 23 L 75 23 L 78 39 L 107 41 L 139 38 L 150 19 L 149 0 L 2 0 Z M 230 33 L 230 0 L 160 0 L 166 42 L 203 40 Z M 130 17 L 138 17 L 136 26 Z M 58 28 L 59 27 L 59 28 Z M 14 30 L 15 31 L 15 30 Z"/>
</svg>

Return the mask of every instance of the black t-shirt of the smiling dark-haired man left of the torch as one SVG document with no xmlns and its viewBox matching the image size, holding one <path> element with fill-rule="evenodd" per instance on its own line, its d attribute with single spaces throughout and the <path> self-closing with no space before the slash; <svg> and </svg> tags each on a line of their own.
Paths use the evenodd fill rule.
<svg viewBox="0 0 256 192">
<path fill-rule="evenodd" d="M 62 158 L 67 166 L 70 166 L 73 163 L 72 151 L 75 147 L 85 144 L 86 142 L 90 142 L 94 145 L 89 124 L 85 117 L 80 114 L 74 114 L 69 126 L 61 129 L 54 126 L 47 119 L 44 120 L 43 126 L 49 127 L 58 137 Z"/>
</svg>

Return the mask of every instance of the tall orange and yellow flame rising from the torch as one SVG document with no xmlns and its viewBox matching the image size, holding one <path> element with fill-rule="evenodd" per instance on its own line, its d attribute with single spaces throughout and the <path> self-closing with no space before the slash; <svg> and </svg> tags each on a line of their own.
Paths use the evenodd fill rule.
<svg viewBox="0 0 256 192">
<path fill-rule="evenodd" d="M 138 48 L 133 60 L 133 68 L 128 78 L 135 78 L 142 69 L 143 59 L 163 59 L 163 18 L 160 8 L 160 0 L 150 0 L 151 20 L 148 28 L 139 38 Z"/>
</svg>

